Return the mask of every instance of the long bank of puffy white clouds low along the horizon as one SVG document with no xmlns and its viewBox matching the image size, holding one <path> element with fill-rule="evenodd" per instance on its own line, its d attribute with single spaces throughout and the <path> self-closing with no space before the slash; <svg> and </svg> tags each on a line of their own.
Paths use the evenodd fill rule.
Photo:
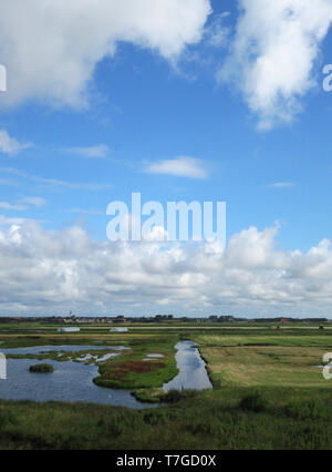
<svg viewBox="0 0 332 472">
<path fill-rule="evenodd" d="M 226 250 L 155 240 L 93 242 L 0 218 L 0 312 L 331 316 L 332 248 L 274 248 L 278 229 L 235 234 Z"/>
</svg>

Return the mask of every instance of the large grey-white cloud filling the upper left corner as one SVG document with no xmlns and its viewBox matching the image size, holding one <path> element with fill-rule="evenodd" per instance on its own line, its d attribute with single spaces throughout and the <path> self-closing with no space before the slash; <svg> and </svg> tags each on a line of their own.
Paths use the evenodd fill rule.
<svg viewBox="0 0 332 472">
<path fill-rule="evenodd" d="M 82 106 L 96 64 L 120 41 L 174 60 L 201 39 L 209 0 L 0 2 L 0 58 L 10 105 L 28 99 Z"/>
</svg>

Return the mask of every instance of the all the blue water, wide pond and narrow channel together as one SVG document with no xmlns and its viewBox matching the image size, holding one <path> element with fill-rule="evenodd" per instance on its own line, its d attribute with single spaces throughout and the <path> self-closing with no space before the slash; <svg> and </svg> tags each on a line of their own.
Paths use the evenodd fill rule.
<svg viewBox="0 0 332 472">
<path fill-rule="evenodd" d="M 181 341 L 177 349 L 176 362 L 179 373 L 163 386 L 165 391 L 176 389 L 211 389 L 206 366 L 195 342 Z M 1 349 L 6 355 L 29 355 L 48 351 L 85 351 L 110 349 L 121 353 L 128 349 L 123 346 L 38 346 L 29 348 Z M 137 401 L 129 390 L 117 390 L 98 387 L 93 379 L 98 376 L 98 367 L 90 363 L 73 361 L 48 360 L 54 368 L 53 373 L 32 373 L 29 367 L 43 363 L 37 359 L 8 359 L 7 380 L 0 380 L 0 398 L 3 400 L 33 400 L 33 401 L 68 401 L 93 402 L 133 409 L 155 408 L 156 404 Z"/>
</svg>

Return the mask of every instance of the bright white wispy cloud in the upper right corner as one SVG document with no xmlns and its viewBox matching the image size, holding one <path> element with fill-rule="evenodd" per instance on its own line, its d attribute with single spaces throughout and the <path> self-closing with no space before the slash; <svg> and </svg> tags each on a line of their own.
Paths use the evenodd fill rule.
<svg viewBox="0 0 332 472">
<path fill-rule="evenodd" d="M 220 70 L 269 129 L 290 122 L 314 85 L 320 44 L 332 22 L 332 0 L 239 0 L 231 53 Z"/>
</svg>

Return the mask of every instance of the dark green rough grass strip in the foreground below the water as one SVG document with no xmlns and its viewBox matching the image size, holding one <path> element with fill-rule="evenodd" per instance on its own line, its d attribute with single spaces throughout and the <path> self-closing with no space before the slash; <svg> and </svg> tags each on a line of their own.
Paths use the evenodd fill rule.
<svg viewBox="0 0 332 472">
<path fill-rule="evenodd" d="M 248 392 L 200 392 L 164 408 L 0 402 L 1 449 L 331 449 L 331 400 L 279 389 L 259 411 Z M 311 397 L 311 394 L 309 394 Z M 324 397 L 324 396 L 323 396 Z M 283 399 L 280 401 L 280 399 Z M 329 396 L 330 399 L 330 396 Z M 330 402 L 329 402 L 330 401 Z"/>
</svg>

